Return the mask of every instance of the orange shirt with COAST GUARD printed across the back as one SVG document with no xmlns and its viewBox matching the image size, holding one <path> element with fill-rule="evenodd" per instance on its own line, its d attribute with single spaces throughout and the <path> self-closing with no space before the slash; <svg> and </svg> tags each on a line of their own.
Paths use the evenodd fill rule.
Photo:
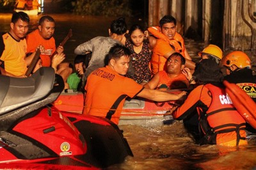
<svg viewBox="0 0 256 170">
<path fill-rule="evenodd" d="M 136 97 L 142 89 L 143 86 L 109 66 L 98 68 L 90 73 L 86 82 L 83 114 L 109 118 L 117 125 L 125 98 Z"/>
</svg>

